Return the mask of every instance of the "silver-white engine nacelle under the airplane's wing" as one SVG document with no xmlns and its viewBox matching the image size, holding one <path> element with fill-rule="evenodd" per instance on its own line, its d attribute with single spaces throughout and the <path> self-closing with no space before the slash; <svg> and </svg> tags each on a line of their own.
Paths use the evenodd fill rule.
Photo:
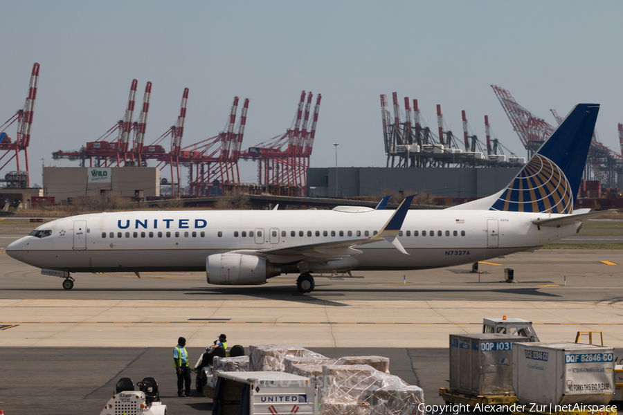
<svg viewBox="0 0 623 415">
<path fill-rule="evenodd" d="M 278 265 L 253 255 L 215 254 L 206 258 L 208 284 L 266 284 L 267 278 L 280 274 Z"/>
</svg>

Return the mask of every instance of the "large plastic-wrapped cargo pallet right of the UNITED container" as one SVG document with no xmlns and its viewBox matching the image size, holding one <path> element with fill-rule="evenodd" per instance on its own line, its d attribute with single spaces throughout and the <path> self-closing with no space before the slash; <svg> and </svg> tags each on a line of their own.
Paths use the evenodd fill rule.
<svg viewBox="0 0 623 415">
<path fill-rule="evenodd" d="M 422 415 L 424 391 L 368 365 L 323 367 L 320 414 Z"/>
</svg>

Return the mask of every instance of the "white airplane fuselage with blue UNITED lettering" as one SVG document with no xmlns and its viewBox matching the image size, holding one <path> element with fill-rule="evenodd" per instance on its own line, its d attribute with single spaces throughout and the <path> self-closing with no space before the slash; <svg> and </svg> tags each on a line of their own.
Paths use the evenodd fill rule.
<svg viewBox="0 0 623 415">
<path fill-rule="evenodd" d="M 206 257 L 213 254 L 372 237 L 393 212 L 213 210 L 86 214 L 46 223 L 37 230 L 52 230 L 51 235 L 21 238 L 6 250 L 26 264 L 70 272 L 199 271 L 206 270 Z M 557 216 L 563 215 L 410 210 L 398 237 L 409 255 L 387 241 L 380 241 L 356 247 L 361 253 L 352 255 L 341 268 L 437 268 L 532 250 L 577 232 L 575 224 L 539 229 L 532 223 L 537 218 Z"/>
</svg>

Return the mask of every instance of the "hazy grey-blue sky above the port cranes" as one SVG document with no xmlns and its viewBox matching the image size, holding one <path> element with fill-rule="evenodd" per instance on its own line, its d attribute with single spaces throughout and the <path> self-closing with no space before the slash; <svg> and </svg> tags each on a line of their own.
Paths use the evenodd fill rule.
<svg viewBox="0 0 623 415">
<path fill-rule="evenodd" d="M 552 125 L 550 109 L 601 104 L 599 139 L 620 152 L 621 16 L 621 1 L 5 0 L 0 122 L 23 107 L 38 62 L 31 184 L 43 164 L 78 165 L 51 154 L 122 119 L 135 78 L 137 107 L 153 83 L 146 144 L 175 124 L 186 87 L 183 146 L 222 131 L 237 95 L 250 99 L 243 149 L 285 133 L 305 90 L 323 95 L 311 167 L 335 165 L 334 143 L 341 167 L 383 167 L 379 95 L 391 103 L 396 91 L 401 104 L 418 100 L 434 131 L 436 104 L 455 136 L 461 110 L 481 139 L 488 115 L 494 137 L 526 156 L 495 84 Z M 241 162 L 241 175 L 256 182 L 256 165 Z"/>
</svg>

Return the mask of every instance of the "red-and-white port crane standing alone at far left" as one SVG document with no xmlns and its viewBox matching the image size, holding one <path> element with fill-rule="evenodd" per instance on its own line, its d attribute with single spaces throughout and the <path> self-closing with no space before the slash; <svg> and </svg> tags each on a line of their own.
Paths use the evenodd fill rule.
<svg viewBox="0 0 623 415">
<path fill-rule="evenodd" d="M 0 166 L 0 170 L 6 167 L 11 160 L 15 158 L 17 162 L 17 172 L 19 168 L 19 151 L 24 151 L 24 159 L 26 160 L 26 187 L 30 187 L 30 172 L 28 171 L 28 145 L 30 145 L 30 133 L 33 129 L 33 114 L 35 113 L 35 100 L 37 99 L 37 86 L 39 85 L 39 64 L 33 65 L 33 71 L 30 73 L 30 83 L 28 84 L 28 95 L 22 109 L 11 116 L 6 122 L 0 125 L 0 163 L 3 158 L 4 164 Z M 17 138 L 12 140 L 7 134 L 6 129 L 17 121 Z M 21 176 L 21 175 L 20 175 Z M 2 180 L 0 180 L 2 181 Z M 21 187 L 21 186 L 20 186 Z"/>
</svg>

